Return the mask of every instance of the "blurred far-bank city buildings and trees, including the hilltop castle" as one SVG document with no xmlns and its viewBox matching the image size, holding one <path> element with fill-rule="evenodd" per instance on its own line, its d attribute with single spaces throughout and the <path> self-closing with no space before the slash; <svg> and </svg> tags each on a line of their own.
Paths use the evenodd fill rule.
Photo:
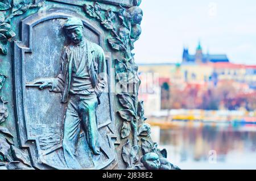
<svg viewBox="0 0 256 181">
<path fill-rule="evenodd" d="M 256 110 L 256 66 L 203 54 L 200 43 L 195 55 L 184 49 L 181 64 L 141 64 L 139 75 L 148 116 L 160 110 Z"/>
</svg>

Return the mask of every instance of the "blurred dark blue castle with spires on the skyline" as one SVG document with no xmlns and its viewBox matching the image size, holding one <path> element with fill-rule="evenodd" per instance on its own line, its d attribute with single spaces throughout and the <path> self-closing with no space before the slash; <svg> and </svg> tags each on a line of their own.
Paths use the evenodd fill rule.
<svg viewBox="0 0 256 181">
<path fill-rule="evenodd" d="M 193 63 L 208 63 L 208 62 L 229 62 L 226 54 L 203 54 L 203 49 L 199 42 L 199 45 L 196 48 L 196 54 L 189 54 L 188 49 L 184 48 L 183 50 L 183 63 L 193 62 Z"/>
</svg>

